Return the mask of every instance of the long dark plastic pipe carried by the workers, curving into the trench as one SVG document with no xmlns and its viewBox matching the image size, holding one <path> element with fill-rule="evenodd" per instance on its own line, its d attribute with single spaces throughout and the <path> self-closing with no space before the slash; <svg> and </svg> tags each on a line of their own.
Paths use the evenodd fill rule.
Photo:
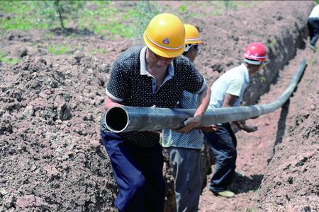
<svg viewBox="0 0 319 212">
<path fill-rule="evenodd" d="M 223 107 L 208 109 L 203 115 L 200 126 L 233 122 L 237 120 L 258 117 L 262 114 L 274 112 L 284 105 L 301 78 L 306 67 L 306 59 L 301 61 L 288 88 L 274 102 L 265 105 L 252 105 L 242 107 Z M 110 131 L 156 131 L 160 129 L 177 129 L 184 126 L 183 122 L 193 117 L 194 109 L 169 109 L 157 107 L 112 107 L 103 114 L 102 120 Z"/>
</svg>

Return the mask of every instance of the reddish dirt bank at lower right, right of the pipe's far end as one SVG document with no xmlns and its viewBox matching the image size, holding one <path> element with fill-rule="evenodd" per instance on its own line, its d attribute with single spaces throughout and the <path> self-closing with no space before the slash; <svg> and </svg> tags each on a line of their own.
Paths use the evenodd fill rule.
<svg viewBox="0 0 319 212">
<path fill-rule="evenodd" d="M 281 112 L 281 137 L 258 192 L 259 211 L 319 211 L 319 56 L 307 49 L 295 60 L 303 57 L 308 66 Z"/>
</svg>

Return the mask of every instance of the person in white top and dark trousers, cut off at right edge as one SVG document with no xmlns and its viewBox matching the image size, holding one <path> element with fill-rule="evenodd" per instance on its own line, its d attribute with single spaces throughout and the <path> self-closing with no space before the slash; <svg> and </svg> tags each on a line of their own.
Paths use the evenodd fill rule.
<svg viewBox="0 0 319 212">
<path fill-rule="evenodd" d="M 319 5 L 317 4 L 313 10 L 311 11 L 309 17 L 308 17 L 308 30 L 309 30 L 309 36 L 310 36 L 310 45 L 309 47 L 315 50 L 317 47 L 315 47 L 315 43 L 318 40 L 319 37 Z"/>
</svg>

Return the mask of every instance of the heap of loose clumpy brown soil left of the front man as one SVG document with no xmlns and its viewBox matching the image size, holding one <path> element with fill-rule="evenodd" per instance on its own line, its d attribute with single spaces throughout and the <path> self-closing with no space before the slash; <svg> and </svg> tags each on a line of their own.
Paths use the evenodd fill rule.
<svg viewBox="0 0 319 212">
<path fill-rule="evenodd" d="M 112 204 L 116 185 L 98 124 L 109 66 L 84 55 L 61 64 L 73 66 L 26 57 L 1 70 L 0 211 L 99 211 Z"/>
</svg>

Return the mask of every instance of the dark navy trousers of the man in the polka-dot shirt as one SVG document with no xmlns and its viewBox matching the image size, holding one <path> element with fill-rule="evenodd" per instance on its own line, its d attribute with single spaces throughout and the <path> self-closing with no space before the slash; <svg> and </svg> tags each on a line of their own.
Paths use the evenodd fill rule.
<svg viewBox="0 0 319 212">
<path fill-rule="evenodd" d="M 123 141 L 121 136 L 101 132 L 118 184 L 114 205 L 118 211 L 158 211 L 164 209 L 165 184 L 162 175 L 162 146 L 150 148 Z"/>
</svg>

